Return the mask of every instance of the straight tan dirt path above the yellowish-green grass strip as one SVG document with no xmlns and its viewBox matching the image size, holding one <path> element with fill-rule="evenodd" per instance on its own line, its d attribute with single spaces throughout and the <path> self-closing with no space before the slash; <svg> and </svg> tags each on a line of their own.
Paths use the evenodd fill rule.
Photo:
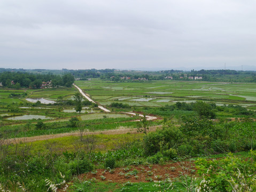
<svg viewBox="0 0 256 192">
<path fill-rule="evenodd" d="M 149 131 L 155 131 L 157 128 L 160 128 L 161 125 L 151 126 Z M 137 129 L 115 129 L 115 130 L 106 130 L 106 131 L 85 131 L 83 135 L 95 135 L 95 134 L 137 134 Z M 49 134 L 49 135 L 38 135 L 34 137 L 23 137 L 23 138 L 13 138 L 7 139 L 6 142 L 8 143 L 19 143 L 19 142 L 34 142 L 34 141 L 42 141 L 48 139 L 55 139 L 61 137 L 68 137 L 68 136 L 80 136 L 80 132 L 71 132 L 71 133 L 59 133 L 59 134 Z"/>
</svg>

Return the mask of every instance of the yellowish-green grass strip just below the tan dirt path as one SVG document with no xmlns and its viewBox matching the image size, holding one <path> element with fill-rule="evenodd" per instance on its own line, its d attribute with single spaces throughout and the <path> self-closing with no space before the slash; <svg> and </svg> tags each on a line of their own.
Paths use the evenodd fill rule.
<svg viewBox="0 0 256 192">
<path fill-rule="evenodd" d="M 30 153 L 36 155 L 38 153 L 48 154 L 51 149 L 56 150 L 56 153 L 62 153 L 63 151 L 76 151 L 79 148 L 87 146 L 86 140 L 94 140 L 96 152 L 101 151 L 106 153 L 108 150 L 118 149 L 119 147 L 125 145 L 135 140 L 142 140 L 144 134 L 97 134 L 97 135 L 86 135 L 86 132 L 83 132 L 81 140 L 80 136 L 67 136 L 61 138 L 54 138 L 42 141 L 33 141 L 29 143 L 24 143 L 26 140 L 21 141 L 18 144 L 19 148 L 24 148 L 29 146 Z M 52 148 L 49 148 L 49 145 Z M 15 145 L 10 145 L 9 150 L 15 151 Z"/>
</svg>

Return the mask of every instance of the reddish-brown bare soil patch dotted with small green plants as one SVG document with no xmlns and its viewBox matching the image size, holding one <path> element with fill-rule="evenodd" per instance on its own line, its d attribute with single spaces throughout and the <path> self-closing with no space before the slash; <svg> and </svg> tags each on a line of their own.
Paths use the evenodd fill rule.
<svg viewBox="0 0 256 192">
<path fill-rule="evenodd" d="M 84 181 L 95 178 L 98 181 L 110 182 L 150 182 L 155 180 L 165 180 L 167 178 L 174 179 L 182 175 L 193 174 L 191 170 L 195 170 L 190 162 L 173 162 L 165 165 L 132 165 L 125 168 L 117 168 L 113 171 L 98 169 L 94 172 L 79 175 L 79 179 Z M 136 173 L 136 174 L 135 174 Z M 102 177 L 104 176 L 104 177 Z M 104 179 L 103 179 L 104 178 Z"/>
</svg>

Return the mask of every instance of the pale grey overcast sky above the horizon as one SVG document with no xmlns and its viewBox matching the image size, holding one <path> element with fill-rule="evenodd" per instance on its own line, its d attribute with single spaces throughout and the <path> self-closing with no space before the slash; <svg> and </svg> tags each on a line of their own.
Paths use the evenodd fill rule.
<svg viewBox="0 0 256 192">
<path fill-rule="evenodd" d="M 256 70 L 255 0 L 1 0 L 0 67 Z"/>
</svg>

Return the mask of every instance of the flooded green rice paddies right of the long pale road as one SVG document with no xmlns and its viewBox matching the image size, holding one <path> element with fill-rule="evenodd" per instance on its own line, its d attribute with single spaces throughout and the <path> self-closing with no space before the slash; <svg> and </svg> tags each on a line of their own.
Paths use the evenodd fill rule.
<svg viewBox="0 0 256 192">
<path fill-rule="evenodd" d="M 255 83 L 184 81 L 111 82 L 92 79 L 75 82 L 100 105 L 122 102 L 130 106 L 161 107 L 175 102 L 214 102 L 216 105 L 256 106 Z"/>
</svg>

